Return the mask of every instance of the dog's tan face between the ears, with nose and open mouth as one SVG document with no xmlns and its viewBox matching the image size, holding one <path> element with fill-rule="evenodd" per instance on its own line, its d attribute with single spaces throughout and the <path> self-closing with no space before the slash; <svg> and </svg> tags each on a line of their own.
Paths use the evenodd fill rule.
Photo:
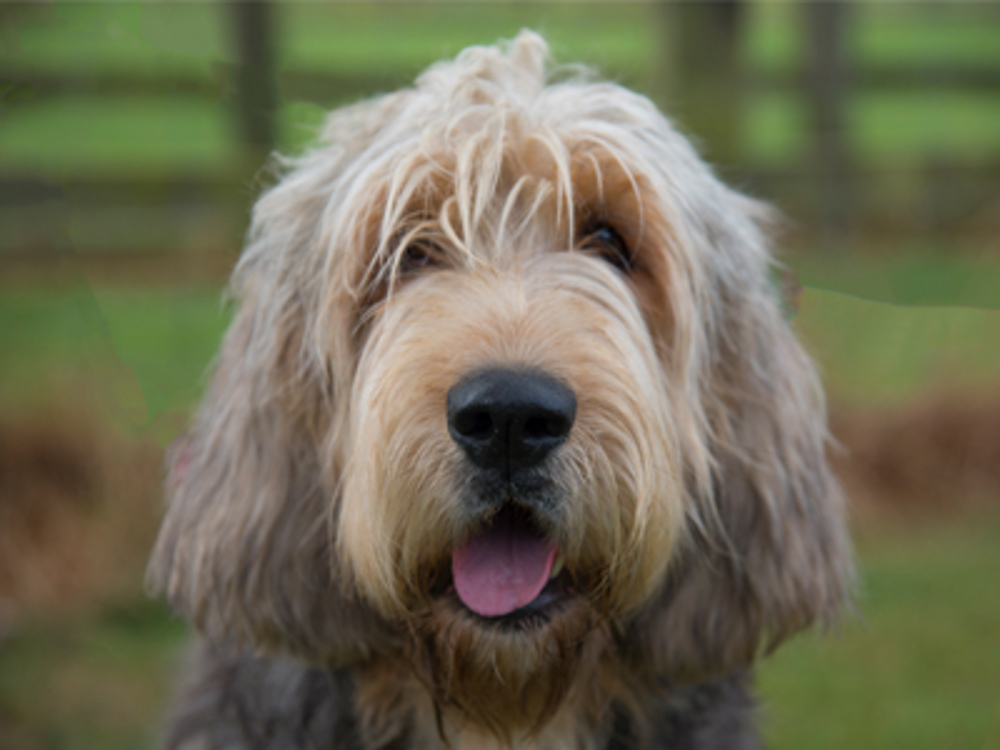
<svg viewBox="0 0 1000 750">
<path fill-rule="evenodd" d="M 419 229 L 394 225 L 403 239 L 376 261 L 391 291 L 364 312 L 349 422 L 329 449 L 344 566 L 390 617 L 436 597 L 487 632 L 544 628 L 572 598 L 623 611 L 662 580 L 684 526 L 678 423 L 691 417 L 649 324 L 668 310 L 638 292 L 666 290 L 642 245 L 654 217 L 640 239 L 631 191 L 560 206 L 547 154 L 524 177 L 517 149 L 534 137 L 498 155 L 479 226 L 447 226 L 447 208 L 421 200 L 404 212 Z M 585 164 L 607 167 L 600 156 Z"/>
</svg>

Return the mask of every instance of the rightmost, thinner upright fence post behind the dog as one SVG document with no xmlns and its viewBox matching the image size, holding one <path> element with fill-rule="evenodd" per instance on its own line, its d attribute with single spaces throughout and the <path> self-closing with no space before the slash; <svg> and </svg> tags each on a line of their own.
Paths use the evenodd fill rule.
<svg viewBox="0 0 1000 750">
<path fill-rule="evenodd" d="M 842 246 L 850 232 L 850 153 L 847 105 L 850 70 L 847 2 L 812 2 L 805 14 L 805 96 L 813 129 L 813 168 L 819 182 L 820 227 L 826 248 Z"/>
</svg>

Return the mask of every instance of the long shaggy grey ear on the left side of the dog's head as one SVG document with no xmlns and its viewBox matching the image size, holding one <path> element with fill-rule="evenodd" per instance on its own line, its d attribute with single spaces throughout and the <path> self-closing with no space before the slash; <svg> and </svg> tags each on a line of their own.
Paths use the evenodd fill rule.
<svg viewBox="0 0 1000 750">
<path fill-rule="evenodd" d="M 331 302 L 339 251 L 323 211 L 345 152 L 307 155 L 255 208 L 232 282 L 238 312 L 175 452 L 150 565 L 153 586 L 207 637 L 328 662 L 385 638 L 333 553 L 354 321 Z"/>
</svg>

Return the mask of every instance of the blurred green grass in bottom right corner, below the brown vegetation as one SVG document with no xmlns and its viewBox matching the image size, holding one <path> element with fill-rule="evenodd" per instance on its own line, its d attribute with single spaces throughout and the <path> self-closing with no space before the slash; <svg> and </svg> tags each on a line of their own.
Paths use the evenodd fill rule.
<svg viewBox="0 0 1000 750">
<path fill-rule="evenodd" d="M 759 673 L 773 750 L 1000 746 L 1000 519 L 869 536 L 858 617 Z"/>
</svg>

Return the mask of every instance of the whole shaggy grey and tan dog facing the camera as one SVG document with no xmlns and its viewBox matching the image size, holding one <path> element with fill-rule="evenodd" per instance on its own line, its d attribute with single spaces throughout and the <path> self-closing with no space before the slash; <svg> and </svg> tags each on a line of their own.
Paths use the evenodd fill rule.
<svg viewBox="0 0 1000 750">
<path fill-rule="evenodd" d="M 167 744 L 751 748 L 850 580 L 767 212 L 531 33 L 334 112 L 257 203 L 152 576 Z"/>
</svg>

